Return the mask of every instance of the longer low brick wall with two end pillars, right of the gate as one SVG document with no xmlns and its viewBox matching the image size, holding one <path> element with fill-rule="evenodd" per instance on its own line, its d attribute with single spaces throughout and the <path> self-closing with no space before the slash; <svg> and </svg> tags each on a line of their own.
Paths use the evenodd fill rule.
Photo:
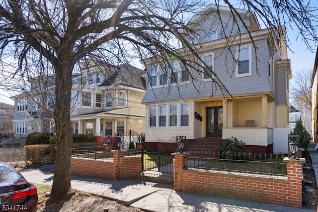
<svg viewBox="0 0 318 212">
<path fill-rule="evenodd" d="M 183 192 L 302 207 L 302 164 L 284 158 L 287 177 L 187 169 L 187 154 L 174 155 L 174 189 Z"/>
</svg>

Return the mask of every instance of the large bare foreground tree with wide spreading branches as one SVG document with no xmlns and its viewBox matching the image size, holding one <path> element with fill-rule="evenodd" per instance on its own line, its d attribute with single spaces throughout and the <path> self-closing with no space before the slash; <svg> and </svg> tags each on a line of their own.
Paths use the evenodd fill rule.
<svg viewBox="0 0 318 212">
<path fill-rule="evenodd" d="M 217 7 L 220 3 L 229 6 L 231 21 L 244 29 L 238 35 L 247 33 L 251 40 L 251 33 L 257 29 L 243 21 L 250 14 L 270 28 L 273 40 L 285 37 L 285 28 L 280 27 L 283 24 L 296 26 L 308 47 L 311 40 L 317 39 L 315 8 L 302 1 L 214 3 Z M 200 35 L 202 30 L 194 20 L 205 11 L 204 6 L 206 3 L 200 0 L 1 0 L 0 56 L 2 63 L 13 61 L 2 64 L 12 67 L 5 68 L 7 83 L 2 86 L 15 89 L 12 85 L 22 85 L 20 91 L 29 92 L 30 79 L 54 75 L 57 155 L 52 199 L 62 197 L 71 188 L 72 74 L 80 70 L 87 58 L 109 64 L 132 62 L 136 58 L 153 58 L 164 64 L 177 58 L 186 70 L 201 74 L 209 66 L 199 55 L 200 45 L 191 45 L 186 36 Z M 228 39 L 225 49 L 229 51 L 240 40 L 223 36 Z M 234 53 L 230 55 L 234 57 Z M 213 70 L 211 75 L 216 87 L 227 95 L 229 92 Z M 191 77 L 196 80 L 196 76 Z"/>
</svg>

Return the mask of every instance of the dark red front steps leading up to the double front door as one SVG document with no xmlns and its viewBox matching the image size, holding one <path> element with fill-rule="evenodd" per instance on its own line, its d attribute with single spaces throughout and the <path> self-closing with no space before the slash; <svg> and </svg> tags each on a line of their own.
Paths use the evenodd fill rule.
<svg viewBox="0 0 318 212">
<path fill-rule="evenodd" d="M 186 151 L 214 151 L 222 143 L 222 138 L 206 137 L 187 140 Z"/>
</svg>

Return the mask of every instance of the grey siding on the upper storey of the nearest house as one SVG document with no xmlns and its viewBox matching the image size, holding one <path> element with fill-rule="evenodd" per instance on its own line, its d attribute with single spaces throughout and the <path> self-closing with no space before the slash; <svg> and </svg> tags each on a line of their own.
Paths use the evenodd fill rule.
<svg viewBox="0 0 318 212">
<path fill-rule="evenodd" d="M 244 43 L 242 45 L 245 45 Z M 252 47 L 252 75 L 248 77 L 235 77 L 235 61 L 231 53 L 224 48 L 215 49 L 214 52 L 214 71 L 226 86 L 231 95 L 242 95 L 258 92 L 269 92 L 270 88 L 266 80 L 265 70 L 265 42 L 264 40 L 255 41 L 257 46 L 255 51 Z M 235 52 L 235 47 L 231 51 Z M 202 54 L 209 52 L 202 51 Z M 267 56 L 266 56 L 267 57 Z M 257 61 L 257 63 L 256 63 Z M 201 75 L 192 73 L 195 76 L 192 82 L 188 84 L 179 84 L 148 88 L 143 103 L 152 103 L 158 101 L 179 100 L 179 99 L 202 99 L 211 97 L 223 97 L 222 91 L 217 88 L 212 81 L 202 81 Z M 148 81 L 148 80 L 147 80 Z"/>
</svg>

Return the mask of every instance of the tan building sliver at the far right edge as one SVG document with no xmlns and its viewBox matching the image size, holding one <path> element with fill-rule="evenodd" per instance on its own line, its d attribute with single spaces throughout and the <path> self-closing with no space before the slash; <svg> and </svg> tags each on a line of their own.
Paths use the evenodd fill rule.
<svg viewBox="0 0 318 212">
<path fill-rule="evenodd" d="M 313 119 L 313 142 L 318 142 L 318 48 L 316 52 L 316 58 L 314 63 L 313 75 L 312 75 L 312 119 Z"/>
</svg>

